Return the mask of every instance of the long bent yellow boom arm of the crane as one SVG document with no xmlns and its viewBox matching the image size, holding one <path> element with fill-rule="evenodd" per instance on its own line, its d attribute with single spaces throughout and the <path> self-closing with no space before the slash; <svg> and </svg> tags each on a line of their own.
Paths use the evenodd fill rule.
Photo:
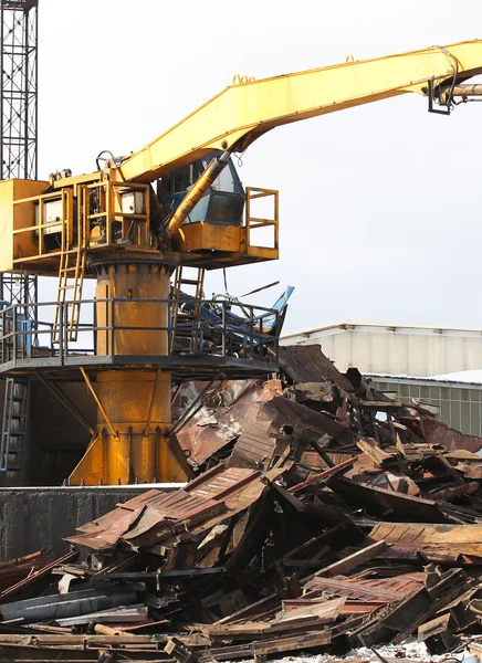
<svg viewBox="0 0 482 663">
<path fill-rule="evenodd" d="M 270 129 L 482 73 L 482 41 L 432 46 L 230 85 L 120 166 L 150 182 L 212 150 L 244 150 Z"/>
</svg>

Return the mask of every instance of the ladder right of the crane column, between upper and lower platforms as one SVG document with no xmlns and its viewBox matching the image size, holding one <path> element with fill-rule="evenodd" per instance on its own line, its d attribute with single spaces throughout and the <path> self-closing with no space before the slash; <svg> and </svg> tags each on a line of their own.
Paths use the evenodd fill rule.
<svg viewBox="0 0 482 663">
<path fill-rule="evenodd" d="M 205 288 L 205 272 L 199 267 L 188 267 L 196 270 L 197 276 L 188 278 L 184 274 L 182 267 L 176 269 L 172 285 L 172 304 L 170 307 L 171 320 L 171 346 L 170 351 L 181 349 L 186 352 L 196 352 L 200 343 L 200 323 L 201 323 L 201 303 Z M 192 290 L 195 292 L 192 292 Z M 190 292 L 187 292 L 190 291 Z M 196 303 L 189 305 L 189 299 L 196 299 Z M 186 307 L 186 309 L 184 309 Z M 179 346 L 179 347 L 176 347 Z"/>
</svg>

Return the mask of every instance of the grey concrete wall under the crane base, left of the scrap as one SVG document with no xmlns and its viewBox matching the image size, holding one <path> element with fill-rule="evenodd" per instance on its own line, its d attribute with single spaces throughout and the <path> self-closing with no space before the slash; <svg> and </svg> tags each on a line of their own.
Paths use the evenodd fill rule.
<svg viewBox="0 0 482 663">
<path fill-rule="evenodd" d="M 55 556 L 69 550 L 65 536 L 117 503 L 150 488 L 174 491 L 185 484 L 134 486 L 62 486 L 0 488 L 0 561 L 51 548 Z"/>
</svg>

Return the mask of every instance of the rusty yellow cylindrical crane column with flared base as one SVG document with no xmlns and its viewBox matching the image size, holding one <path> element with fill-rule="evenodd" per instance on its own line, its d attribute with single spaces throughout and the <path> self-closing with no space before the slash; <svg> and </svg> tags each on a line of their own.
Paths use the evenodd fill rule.
<svg viewBox="0 0 482 663">
<path fill-rule="evenodd" d="M 71 485 L 185 481 L 169 446 L 171 373 L 154 360 L 169 348 L 172 267 L 154 261 L 97 265 L 96 355 L 122 359 L 123 368 L 97 375 L 97 429 L 70 477 Z M 143 302 L 146 299 L 146 302 Z M 156 299 L 153 302 L 153 299 Z M 164 329 L 163 329 L 164 328 Z M 145 357 L 129 366 L 129 357 Z"/>
</svg>

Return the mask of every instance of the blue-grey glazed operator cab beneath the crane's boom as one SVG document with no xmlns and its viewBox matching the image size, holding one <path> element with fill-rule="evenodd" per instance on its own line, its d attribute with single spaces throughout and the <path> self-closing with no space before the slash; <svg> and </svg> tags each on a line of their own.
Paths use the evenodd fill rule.
<svg viewBox="0 0 482 663">
<path fill-rule="evenodd" d="M 157 194 L 167 214 L 176 211 L 192 185 L 200 178 L 213 157 L 210 155 L 179 168 L 158 180 Z M 245 193 L 239 175 L 231 159 L 217 177 L 211 187 L 192 209 L 184 225 L 190 223 L 214 223 L 221 225 L 241 225 Z"/>
</svg>

